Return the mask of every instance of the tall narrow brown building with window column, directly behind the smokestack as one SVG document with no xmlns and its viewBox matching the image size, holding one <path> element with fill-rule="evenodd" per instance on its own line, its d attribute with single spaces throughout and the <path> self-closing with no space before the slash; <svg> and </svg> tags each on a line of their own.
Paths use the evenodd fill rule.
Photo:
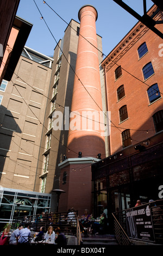
<svg viewBox="0 0 163 256">
<path fill-rule="evenodd" d="M 65 171 L 66 173 L 62 172 L 59 165 L 67 159 L 67 138 L 70 124 L 69 119 L 76 69 L 79 28 L 80 24 L 71 20 L 65 30 L 64 37 L 54 49 L 52 78 L 46 107 L 45 125 L 41 139 L 40 161 L 37 168 L 39 179 L 37 176 L 37 185 L 35 186 L 36 190 L 40 190 L 41 187 L 41 191 L 46 193 L 51 193 L 52 190 L 59 188 L 60 185 L 63 186 L 62 190 L 66 190 L 65 187 L 68 184 L 68 177 L 72 171 L 71 168 L 71 170 L 67 169 Z M 102 51 L 102 38 L 99 35 L 97 35 L 97 44 Z M 98 53 L 98 58 L 99 63 L 101 63 L 102 57 L 100 53 Z M 73 151 L 70 152 L 70 154 L 72 153 Z M 64 181 L 65 178 L 67 182 Z M 57 209 L 56 202 L 57 194 L 52 192 L 53 211 Z M 62 195 L 61 202 L 64 202 L 62 210 L 70 208 L 67 201 L 65 202 L 63 200 Z"/>
</svg>

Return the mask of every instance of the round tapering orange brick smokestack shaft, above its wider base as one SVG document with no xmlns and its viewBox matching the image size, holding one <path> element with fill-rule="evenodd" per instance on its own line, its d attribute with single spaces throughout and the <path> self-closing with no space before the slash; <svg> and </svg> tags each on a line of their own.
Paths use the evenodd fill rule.
<svg viewBox="0 0 163 256">
<path fill-rule="evenodd" d="M 105 157 L 97 16 L 92 5 L 84 5 L 78 13 L 80 32 L 67 143 L 70 151 L 66 153 L 68 158 L 78 157 L 76 153 L 79 151 L 86 157 L 97 157 L 98 153 Z"/>
</svg>

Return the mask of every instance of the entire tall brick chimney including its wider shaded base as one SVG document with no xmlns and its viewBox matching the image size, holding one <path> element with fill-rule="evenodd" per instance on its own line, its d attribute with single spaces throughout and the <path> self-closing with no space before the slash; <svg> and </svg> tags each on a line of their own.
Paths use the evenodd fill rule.
<svg viewBox="0 0 163 256">
<path fill-rule="evenodd" d="M 103 127 L 101 128 L 103 120 L 97 16 L 97 10 L 92 5 L 84 5 L 78 13 L 80 32 L 67 143 L 70 150 L 67 150 L 67 159 L 59 164 L 60 189 L 66 191 L 61 195 L 59 210 L 64 211 L 73 206 L 79 211 L 79 215 L 83 214 L 85 208 L 92 210 L 91 164 L 99 161 L 98 154 L 105 157 Z M 62 175 L 66 175 L 64 185 Z"/>
</svg>

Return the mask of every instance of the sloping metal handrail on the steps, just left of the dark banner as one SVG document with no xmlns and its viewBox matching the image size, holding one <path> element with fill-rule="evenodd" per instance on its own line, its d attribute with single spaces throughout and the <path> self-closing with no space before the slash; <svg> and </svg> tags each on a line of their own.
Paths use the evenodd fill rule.
<svg viewBox="0 0 163 256">
<path fill-rule="evenodd" d="M 128 235 L 126 234 L 120 223 L 117 221 L 114 214 L 112 214 L 112 216 L 114 217 L 114 231 L 117 242 L 120 245 L 134 245 L 134 243 L 131 242 L 131 240 L 129 239 Z"/>
</svg>

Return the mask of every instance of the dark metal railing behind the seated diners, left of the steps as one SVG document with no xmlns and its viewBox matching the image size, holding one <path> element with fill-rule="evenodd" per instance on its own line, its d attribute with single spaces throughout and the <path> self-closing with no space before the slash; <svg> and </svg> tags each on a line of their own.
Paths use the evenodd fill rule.
<svg viewBox="0 0 163 256">
<path fill-rule="evenodd" d="M 12 220 L 11 229 L 16 229 L 19 224 L 29 224 L 31 231 L 39 232 L 43 227 L 45 232 L 49 226 L 60 228 L 65 235 L 72 235 L 77 237 L 78 245 L 82 241 L 80 226 L 78 221 L 78 211 L 70 212 L 52 212 L 50 214 L 28 215 L 16 217 Z"/>
</svg>

